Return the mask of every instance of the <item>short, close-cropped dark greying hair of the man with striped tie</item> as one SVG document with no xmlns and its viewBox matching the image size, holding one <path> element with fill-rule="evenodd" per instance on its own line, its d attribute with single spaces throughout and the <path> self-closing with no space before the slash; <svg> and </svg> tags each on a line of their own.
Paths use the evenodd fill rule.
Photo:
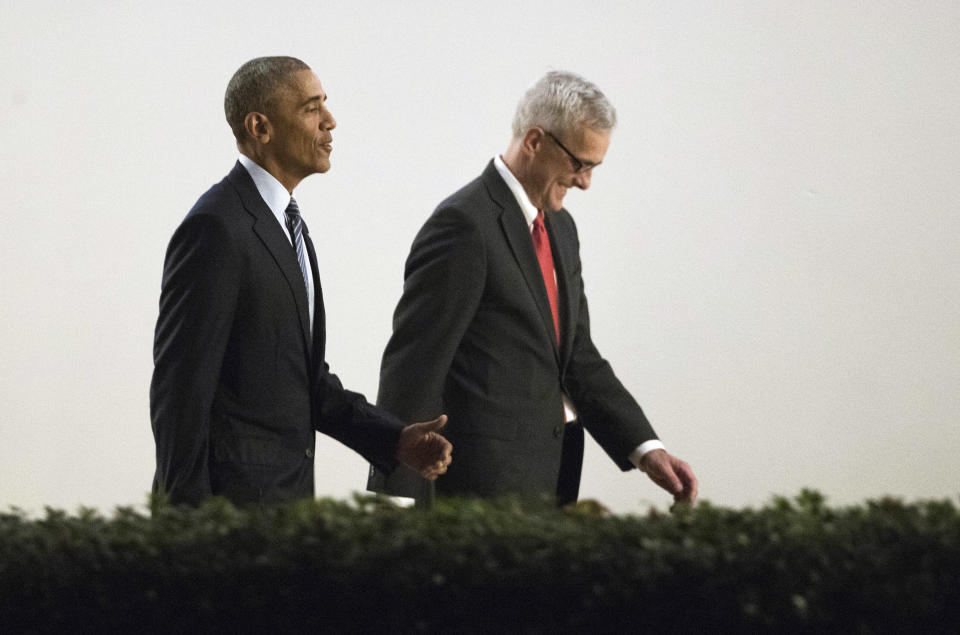
<svg viewBox="0 0 960 635">
<path fill-rule="evenodd" d="M 237 69 L 223 98 L 227 123 L 237 141 L 244 138 L 243 120 L 247 114 L 269 114 L 277 90 L 287 83 L 290 75 L 303 70 L 310 67 L 295 57 L 285 56 L 258 57 Z"/>
</svg>

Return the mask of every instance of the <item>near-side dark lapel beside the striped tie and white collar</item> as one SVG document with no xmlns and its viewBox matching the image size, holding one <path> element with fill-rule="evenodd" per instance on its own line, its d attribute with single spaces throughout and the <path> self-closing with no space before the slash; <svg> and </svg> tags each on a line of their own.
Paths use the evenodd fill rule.
<svg viewBox="0 0 960 635">
<path fill-rule="evenodd" d="M 307 289 L 303 284 L 303 274 L 300 273 L 300 263 L 297 262 L 297 252 L 290 245 L 290 241 L 283 227 L 277 223 L 276 216 L 267 207 L 253 179 L 246 168 L 238 161 L 233 170 L 227 175 L 230 182 L 237 188 L 240 200 L 247 212 L 253 216 L 253 231 L 263 242 L 267 251 L 273 256 L 277 266 L 287 280 L 287 286 L 293 294 L 297 307 L 297 316 L 300 330 L 303 335 L 304 350 L 310 350 L 310 312 L 307 304 Z"/>
</svg>

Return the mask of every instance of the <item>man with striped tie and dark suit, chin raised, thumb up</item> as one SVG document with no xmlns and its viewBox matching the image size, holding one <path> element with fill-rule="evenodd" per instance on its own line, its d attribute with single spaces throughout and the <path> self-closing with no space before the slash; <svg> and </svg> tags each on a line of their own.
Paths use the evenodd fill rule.
<svg viewBox="0 0 960 635">
<path fill-rule="evenodd" d="M 315 430 L 388 471 L 432 479 L 450 462 L 445 417 L 407 426 L 324 361 L 317 258 L 293 190 L 330 169 L 325 101 L 290 57 L 251 60 L 227 87 L 240 159 L 187 214 L 163 270 L 150 411 L 154 491 L 174 503 L 312 497 Z"/>
</svg>

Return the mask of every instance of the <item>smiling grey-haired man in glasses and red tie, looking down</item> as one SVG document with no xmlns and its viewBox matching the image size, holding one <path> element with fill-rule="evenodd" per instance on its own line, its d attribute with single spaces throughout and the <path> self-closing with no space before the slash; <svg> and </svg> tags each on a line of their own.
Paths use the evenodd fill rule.
<svg viewBox="0 0 960 635">
<path fill-rule="evenodd" d="M 615 123 L 595 85 L 547 74 L 520 102 L 507 151 L 413 242 L 378 399 L 408 418 L 449 415 L 457 461 L 439 494 L 575 501 L 586 429 L 621 469 L 696 499 L 693 471 L 666 452 L 590 338 L 562 203 L 590 186 Z M 374 465 L 369 486 L 428 499 L 432 484 L 414 476 Z"/>
</svg>

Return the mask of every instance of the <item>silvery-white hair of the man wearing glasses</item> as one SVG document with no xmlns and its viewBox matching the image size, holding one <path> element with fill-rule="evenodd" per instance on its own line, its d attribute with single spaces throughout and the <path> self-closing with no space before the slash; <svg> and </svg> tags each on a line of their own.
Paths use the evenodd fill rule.
<svg viewBox="0 0 960 635">
<path fill-rule="evenodd" d="M 593 82 L 576 73 L 550 71 L 517 104 L 513 138 L 537 126 L 562 135 L 580 125 L 611 130 L 617 125 L 617 111 Z"/>
</svg>

